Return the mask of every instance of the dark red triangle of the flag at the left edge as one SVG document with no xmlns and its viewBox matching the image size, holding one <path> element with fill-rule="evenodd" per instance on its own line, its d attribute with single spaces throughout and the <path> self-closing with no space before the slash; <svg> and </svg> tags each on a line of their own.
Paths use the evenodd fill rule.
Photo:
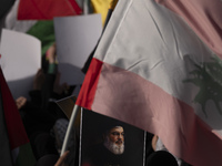
<svg viewBox="0 0 222 166">
<path fill-rule="evenodd" d="M 20 145 L 29 143 L 21 116 L 17 108 L 16 102 L 11 95 L 9 86 L 4 80 L 2 70 L 0 69 L 0 89 L 3 101 L 4 120 L 11 149 Z"/>
</svg>

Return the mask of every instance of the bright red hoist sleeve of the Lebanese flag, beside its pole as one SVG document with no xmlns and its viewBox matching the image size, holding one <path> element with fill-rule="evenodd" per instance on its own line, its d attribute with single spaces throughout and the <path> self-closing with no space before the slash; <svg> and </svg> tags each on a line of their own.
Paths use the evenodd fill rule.
<svg viewBox="0 0 222 166">
<path fill-rule="evenodd" d="M 88 110 L 91 110 L 91 105 L 94 100 L 94 94 L 97 91 L 97 85 L 98 85 L 100 72 L 102 69 L 102 64 L 103 63 L 101 61 L 99 61 L 97 59 L 92 59 L 92 61 L 90 63 L 91 70 L 88 71 L 88 73 L 84 77 L 84 82 L 82 84 L 81 92 L 78 95 L 78 100 L 75 103 L 77 105 L 80 105 Z"/>
</svg>

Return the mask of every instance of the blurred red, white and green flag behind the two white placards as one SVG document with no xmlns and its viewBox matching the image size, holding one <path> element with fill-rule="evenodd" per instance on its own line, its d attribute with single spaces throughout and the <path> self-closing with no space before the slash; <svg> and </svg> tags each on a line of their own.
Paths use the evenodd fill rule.
<svg viewBox="0 0 222 166">
<path fill-rule="evenodd" d="M 74 0 L 17 0 L 6 17 L 6 29 L 38 38 L 44 55 L 56 42 L 53 18 L 81 13 Z"/>
</svg>

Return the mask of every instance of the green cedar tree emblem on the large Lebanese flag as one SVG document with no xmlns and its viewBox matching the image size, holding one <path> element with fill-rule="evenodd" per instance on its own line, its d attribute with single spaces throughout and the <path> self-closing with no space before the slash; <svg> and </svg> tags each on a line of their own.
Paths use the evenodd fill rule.
<svg viewBox="0 0 222 166">
<path fill-rule="evenodd" d="M 222 61 L 218 56 L 214 56 L 211 62 L 194 65 L 195 70 L 189 73 L 192 75 L 192 79 L 183 81 L 185 83 L 193 83 L 200 87 L 193 102 L 201 104 L 202 111 L 205 117 L 208 117 L 205 105 L 208 101 L 212 100 L 219 114 L 222 115 L 220 106 L 220 102 L 222 102 Z"/>
</svg>

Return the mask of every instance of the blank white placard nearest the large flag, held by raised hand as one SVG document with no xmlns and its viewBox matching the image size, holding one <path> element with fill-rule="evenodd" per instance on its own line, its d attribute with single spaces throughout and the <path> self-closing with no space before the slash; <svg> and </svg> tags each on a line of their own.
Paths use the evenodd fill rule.
<svg viewBox="0 0 222 166">
<path fill-rule="evenodd" d="M 101 14 L 60 17 L 53 21 L 61 83 L 81 84 L 84 74 L 80 70 L 102 33 Z"/>
</svg>

